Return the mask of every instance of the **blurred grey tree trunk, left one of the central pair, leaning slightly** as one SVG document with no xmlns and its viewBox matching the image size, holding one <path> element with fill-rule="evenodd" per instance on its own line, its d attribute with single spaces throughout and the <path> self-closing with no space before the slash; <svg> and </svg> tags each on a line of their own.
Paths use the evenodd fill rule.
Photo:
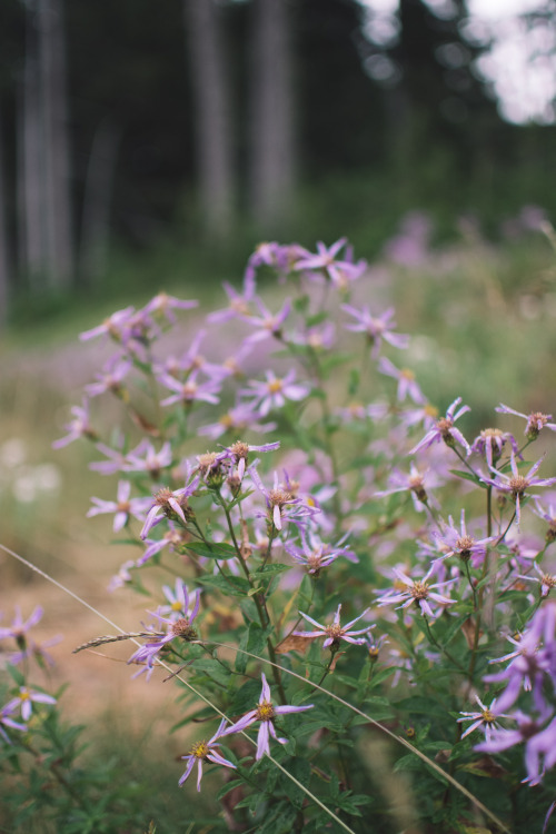
<svg viewBox="0 0 556 834">
<path fill-rule="evenodd" d="M 215 0 L 185 0 L 202 220 L 226 237 L 232 214 L 232 135 L 228 75 Z"/>
</svg>

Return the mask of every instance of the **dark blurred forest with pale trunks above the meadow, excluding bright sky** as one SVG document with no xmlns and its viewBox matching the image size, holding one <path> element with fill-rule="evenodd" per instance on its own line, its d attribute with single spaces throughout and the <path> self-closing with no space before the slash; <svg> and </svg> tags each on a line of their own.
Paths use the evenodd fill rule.
<svg viewBox="0 0 556 834">
<path fill-rule="evenodd" d="M 3 319 L 153 280 L 156 264 L 231 272 L 262 237 L 348 235 L 373 258 L 410 209 L 440 241 L 461 215 L 492 236 L 525 203 L 553 216 L 556 128 L 502 120 L 464 0 L 400 0 L 381 43 L 370 14 L 2 0 Z"/>
</svg>

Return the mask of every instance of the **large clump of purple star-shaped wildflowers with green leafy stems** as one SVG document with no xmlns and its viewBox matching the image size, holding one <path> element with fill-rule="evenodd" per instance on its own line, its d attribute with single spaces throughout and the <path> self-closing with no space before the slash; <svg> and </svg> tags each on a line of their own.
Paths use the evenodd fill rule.
<svg viewBox="0 0 556 834">
<path fill-rule="evenodd" d="M 161 294 L 83 334 L 115 353 L 58 441 L 93 444 L 91 468 L 118 481 L 89 515 L 137 547 L 111 590 L 151 594 L 150 624 L 129 635 L 135 676 L 170 673 L 190 718 L 219 722 L 179 783 L 196 765 L 198 788 L 203 764 L 234 771 L 226 818 L 267 834 L 408 828 L 391 788 L 368 788 L 378 722 L 427 831 L 540 818 L 556 763 L 556 476 L 526 453 L 552 416 L 500 405 L 499 427 L 466 437 L 470 406 L 428 400 L 345 240 L 264 244 L 225 291 L 206 317 Z M 101 397 L 120 431 L 102 426 Z"/>
</svg>

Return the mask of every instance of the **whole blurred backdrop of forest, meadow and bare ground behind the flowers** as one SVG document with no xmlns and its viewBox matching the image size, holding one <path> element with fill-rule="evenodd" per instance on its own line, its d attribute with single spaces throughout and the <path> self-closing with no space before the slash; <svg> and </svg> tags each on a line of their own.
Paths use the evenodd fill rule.
<svg viewBox="0 0 556 834">
<path fill-rule="evenodd" d="M 200 320 L 264 239 L 347 236 L 471 437 L 499 401 L 556 411 L 555 97 L 552 0 L 1 0 L 0 542 L 137 627 L 106 590 L 126 547 L 85 518 L 115 484 L 51 448 L 102 361 L 77 336 L 162 289 Z M 139 733 L 158 784 L 172 693 L 72 658 L 105 627 L 0 554 L 14 600 L 66 634 L 69 712 L 127 774 Z"/>
</svg>

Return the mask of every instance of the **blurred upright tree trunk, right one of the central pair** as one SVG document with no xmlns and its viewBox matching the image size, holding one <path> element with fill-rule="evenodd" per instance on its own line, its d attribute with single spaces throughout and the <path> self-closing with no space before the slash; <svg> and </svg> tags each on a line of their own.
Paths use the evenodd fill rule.
<svg viewBox="0 0 556 834">
<path fill-rule="evenodd" d="M 291 200 L 296 152 L 288 9 L 285 0 L 255 0 L 251 52 L 250 208 L 266 227 Z"/>
</svg>

